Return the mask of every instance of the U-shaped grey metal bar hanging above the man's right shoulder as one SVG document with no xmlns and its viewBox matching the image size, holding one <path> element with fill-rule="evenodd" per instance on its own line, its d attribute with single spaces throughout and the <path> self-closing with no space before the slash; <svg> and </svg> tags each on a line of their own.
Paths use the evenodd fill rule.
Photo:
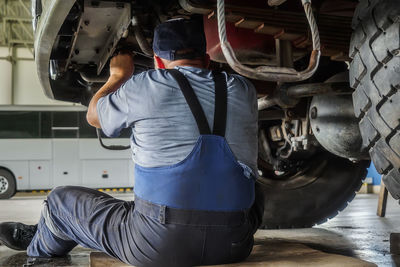
<svg viewBox="0 0 400 267">
<path fill-rule="evenodd" d="M 310 25 L 313 51 L 311 52 L 310 61 L 307 69 L 303 71 L 296 71 L 293 68 L 282 68 L 282 67 L 270 67 L 260 66 L 257 68 L 250 68 L 242 65 L 236 58 L 235 52 L 231 47 L 228 38 L 226 36 L 226 25 L 225 25 L 225 0 L 217 1 L 218 11 L 218 32 L 221 42 L 222 52 L 229 64 L 237 73 L 258 80 L 265 81 L 278 81 L 278 82 L 296 82 L 303 81 L 310 78 L 318 68 L 319 57 L 320 57 L 320 39 L 318 34 L 318 28 L 312 13 L 311 4 L 304 4 L 304 11 L 307 16 L 307 20 Z"/>
</svg>

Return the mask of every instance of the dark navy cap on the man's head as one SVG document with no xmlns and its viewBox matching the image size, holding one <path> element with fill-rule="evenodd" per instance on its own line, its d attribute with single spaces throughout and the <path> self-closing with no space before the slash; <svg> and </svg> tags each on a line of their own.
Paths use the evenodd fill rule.
<svg viewBox="0 0 400 267">
<path fill-rule="evenodd" d="M 154 30 L 153 51 L 166 60 L 204 57 L 206 46 L 203 23 L 199 19 L 172 19 Z"/>
</svg>

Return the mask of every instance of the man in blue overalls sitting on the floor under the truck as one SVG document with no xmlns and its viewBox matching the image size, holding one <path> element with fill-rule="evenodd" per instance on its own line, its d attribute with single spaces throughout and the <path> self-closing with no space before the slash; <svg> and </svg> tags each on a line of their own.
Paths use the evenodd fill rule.
<svg viewBox="0 0 400 267">
<path fill-rule="evenodd" d="M 154 33 L 156 70 L 110 63 L 87 119 L 108 136 L 132 128 L 135 201 L 57 187 L 39 224 L 0 225 L 0 239 L 31 257 L 77 244 L 135 266 L 194 266 L 245 259 L 258 226 L 254 203 L 257 99 L 238 75 L 207 70 L 202 25 L 171 20 Z"/>
</svg>

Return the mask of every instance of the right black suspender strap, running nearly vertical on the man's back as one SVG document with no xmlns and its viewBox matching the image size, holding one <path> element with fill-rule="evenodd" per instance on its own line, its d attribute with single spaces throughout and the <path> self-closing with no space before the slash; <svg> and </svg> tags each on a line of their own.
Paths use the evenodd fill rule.
<svg viewBox="0 0 400 267">
<path fill-rule="evenodd" d="M 226 110 L 227 110 L 227 85 L 225 75 L 214 72 L 215 83 L 215 111 L 213 134 L 224 137 L 226 129 Z"/>
</svg>

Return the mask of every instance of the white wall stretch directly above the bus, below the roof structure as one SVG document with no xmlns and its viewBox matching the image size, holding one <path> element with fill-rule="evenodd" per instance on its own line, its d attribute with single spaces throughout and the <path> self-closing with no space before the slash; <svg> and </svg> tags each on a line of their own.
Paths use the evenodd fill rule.
<svg viewBox="0 0 400 267">
<path fill-rule="evenodd" d="M 0 47 L 0 105 L 73 105 L 45 96 L 28 49 L 15 48 L 14 64 L 3 59 L 10 55 L 12 50 Z"/>
</svg>

